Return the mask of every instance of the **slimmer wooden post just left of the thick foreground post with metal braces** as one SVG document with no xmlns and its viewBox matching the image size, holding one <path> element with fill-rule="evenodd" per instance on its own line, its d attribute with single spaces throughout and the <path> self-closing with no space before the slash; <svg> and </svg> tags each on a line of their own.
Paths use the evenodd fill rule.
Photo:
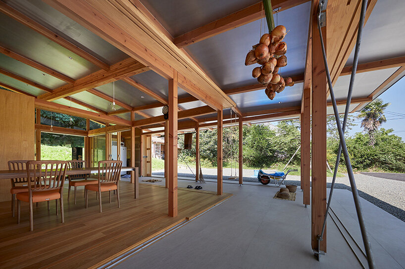
<svg viewBox="0 0 405 269">
<path fill-rule="evenodd" d="M 301 189 L 303 190 L 303 204 L 309 204 L 310 184 L 310 125 L 311 125 L 311 89 L 304 89 L 304 111 L 301 113 Z"/>
</svg>

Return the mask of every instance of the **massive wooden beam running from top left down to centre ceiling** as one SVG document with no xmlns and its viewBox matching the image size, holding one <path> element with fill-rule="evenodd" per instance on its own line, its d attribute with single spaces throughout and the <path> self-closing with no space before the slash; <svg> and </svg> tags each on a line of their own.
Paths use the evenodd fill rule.
<svg viewBox="0 0 405 269">
<path fill-rule="evenodd" d="M 160 27 L 130 0 L 45 0 L 121 51 L 165 78 L 179 73 L 179 85 L 215 108 L 235 103 L 184 53 Z M 137 6 L 138 5 L 138 6 Z"/>
</svg>

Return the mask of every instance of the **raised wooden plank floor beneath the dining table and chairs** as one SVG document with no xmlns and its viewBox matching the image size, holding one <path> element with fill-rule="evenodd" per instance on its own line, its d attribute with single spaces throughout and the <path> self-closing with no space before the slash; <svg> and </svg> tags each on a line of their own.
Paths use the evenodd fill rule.
<svg viewBox="0 0 405 269">
<path fill-rule="evenodd" d="M 72 189 L 73 190 L 73 189 Z M 179 215 L 167 216 L 168 189 L 140 184 L 140 198 L 134 199 L 133 185 L 120 182 L 120 202 L 108 203 L 102 195 L 102 213 L 96 193 L 89 196 L 84 208 L 83 188 L 77 192 L 77 204 L 64 191 L 65 223 L 55 216 L 47 203 L 34 205 L 34 231 L 29 231 L 28 203 L 21 203 L 21 223 L 11 216 L 10 202 L 0 202 L 0 268 L 95 268 L 139 245 L 155 234 L 169 229 L 186 218 L 207 210 L 232 194 L 179 188 Z M 71 193 L 72 194 L 72 193 Z"/>
</svg>

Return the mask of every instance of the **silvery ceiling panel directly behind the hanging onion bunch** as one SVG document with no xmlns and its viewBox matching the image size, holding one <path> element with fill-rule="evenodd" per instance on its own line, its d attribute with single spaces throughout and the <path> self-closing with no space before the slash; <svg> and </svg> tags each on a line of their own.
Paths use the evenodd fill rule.
<svg viewBox="0 0 405 269">
<path fill-rule="evenodd" d="M 310 2 L 306 2 L 278 14 L 278 24 L 290 30 L 284 38 L 288 47 L 288 64 L 280 71 L 283 77 L 304 73 L 309 13 Z M 276 15 L 274 18 L 276 20 Z M 252 46 L 259 41 L 260 21 L 261 33 L 268 32 L 263 18 L 191 44 L 185 49 L 221 89 L 257 83 L 257 79 L 252 77 L 252 70 L 258 65 L 245 66 L 245 58 Z"/>
</svg>

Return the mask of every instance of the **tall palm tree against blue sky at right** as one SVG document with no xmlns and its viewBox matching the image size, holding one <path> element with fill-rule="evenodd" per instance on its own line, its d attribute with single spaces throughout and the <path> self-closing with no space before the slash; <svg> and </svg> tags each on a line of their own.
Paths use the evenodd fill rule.
<svg viewBox="0 0 405 269">
<path fill-rule="evenodd" d="M 374 146 L 375 137 L 374 133 L 377 129 L 387 121 L 384 115 L 384 110 L 391 105 L 391 103 L 383 104 L 383 100 L 376 98 L 373 102 L 360 110 L 357 117 L 362 118 L 361 127 L 368 133 L 370 138 L 370 146 Z"/>
</svg>

